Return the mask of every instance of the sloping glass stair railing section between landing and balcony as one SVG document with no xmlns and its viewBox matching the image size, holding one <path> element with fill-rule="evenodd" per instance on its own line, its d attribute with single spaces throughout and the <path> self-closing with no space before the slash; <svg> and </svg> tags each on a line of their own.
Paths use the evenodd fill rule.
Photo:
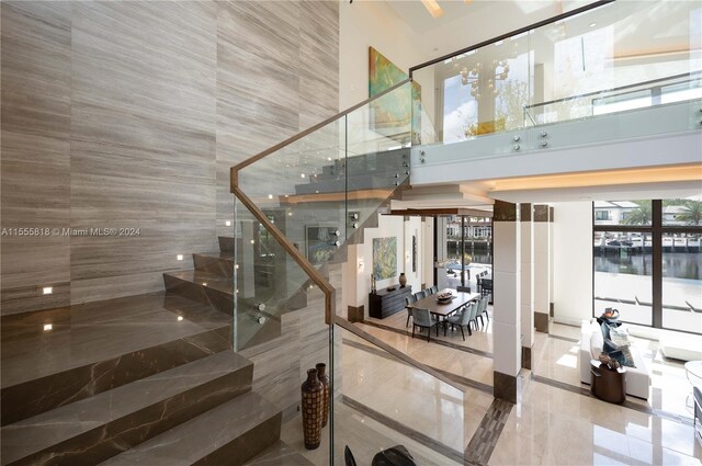
<svg viewBox="0 0 702 466">
<path fill-rule="evenodd" d="M 282 315 L 319 287 L 332 322 L 332 275 L 409 178 L 405 81 L 233 168 L 237 349 L 280 336 Z M 389 109 L 389 110 L 388 110 Z M 409 106 L 407 106 L 407 110 Z M 340 280 L 340 279 L 339 279 Z"/>
</svg>

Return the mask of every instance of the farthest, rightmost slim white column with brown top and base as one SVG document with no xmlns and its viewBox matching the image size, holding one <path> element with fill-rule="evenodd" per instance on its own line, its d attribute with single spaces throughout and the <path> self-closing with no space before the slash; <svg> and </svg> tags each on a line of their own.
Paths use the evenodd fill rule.
<svg viewBox="0 0 702 466">
<path fill-rule="evenodd" d="M 551 245 L 548 206 L 534 206 L 534 326 L 548 333 L 551 307 Z"/>
</svg>

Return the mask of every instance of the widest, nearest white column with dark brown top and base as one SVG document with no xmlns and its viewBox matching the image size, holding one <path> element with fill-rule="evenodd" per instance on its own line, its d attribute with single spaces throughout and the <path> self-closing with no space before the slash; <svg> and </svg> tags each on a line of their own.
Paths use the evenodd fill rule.
<svg viewBox="0 0 702 466">
<path fill-rule="evenodd" d="M 494 396 L 517 402 L 521 370 L 520 227 L 517 205 L 496 201 L 492 216 Z"/>
</svg>

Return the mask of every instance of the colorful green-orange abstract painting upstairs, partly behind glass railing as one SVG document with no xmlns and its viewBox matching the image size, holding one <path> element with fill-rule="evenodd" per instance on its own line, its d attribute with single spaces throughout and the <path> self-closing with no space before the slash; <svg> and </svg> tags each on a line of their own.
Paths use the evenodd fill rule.
<svg viewBox="0 0 702 466">
<path fill-rule="evenodd" d="M 374 96 L 408 78 L 408 75 L 373 47 L 369 47 L 369 96 Z M 409 89 L 409 88 L 408 88 Z M 421 87 L 417 82 L 399 88 L 371 102 L 373 129 L 387 136 L 411 133 L 414 144 L 420 144 Z"/>
</svg>

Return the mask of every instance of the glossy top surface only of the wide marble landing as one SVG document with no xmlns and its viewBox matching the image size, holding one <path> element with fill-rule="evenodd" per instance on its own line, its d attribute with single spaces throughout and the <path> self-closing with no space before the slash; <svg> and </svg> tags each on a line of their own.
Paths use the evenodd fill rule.
<svg viewBox="0 0 702 466">
<path fill-rule="evenodd" d="M 45 331 L 48 323 L 53 328 Z M 5 316 L 2 388 L 230 323 L 210 306 L 165 292 Z"/>
</svg>

